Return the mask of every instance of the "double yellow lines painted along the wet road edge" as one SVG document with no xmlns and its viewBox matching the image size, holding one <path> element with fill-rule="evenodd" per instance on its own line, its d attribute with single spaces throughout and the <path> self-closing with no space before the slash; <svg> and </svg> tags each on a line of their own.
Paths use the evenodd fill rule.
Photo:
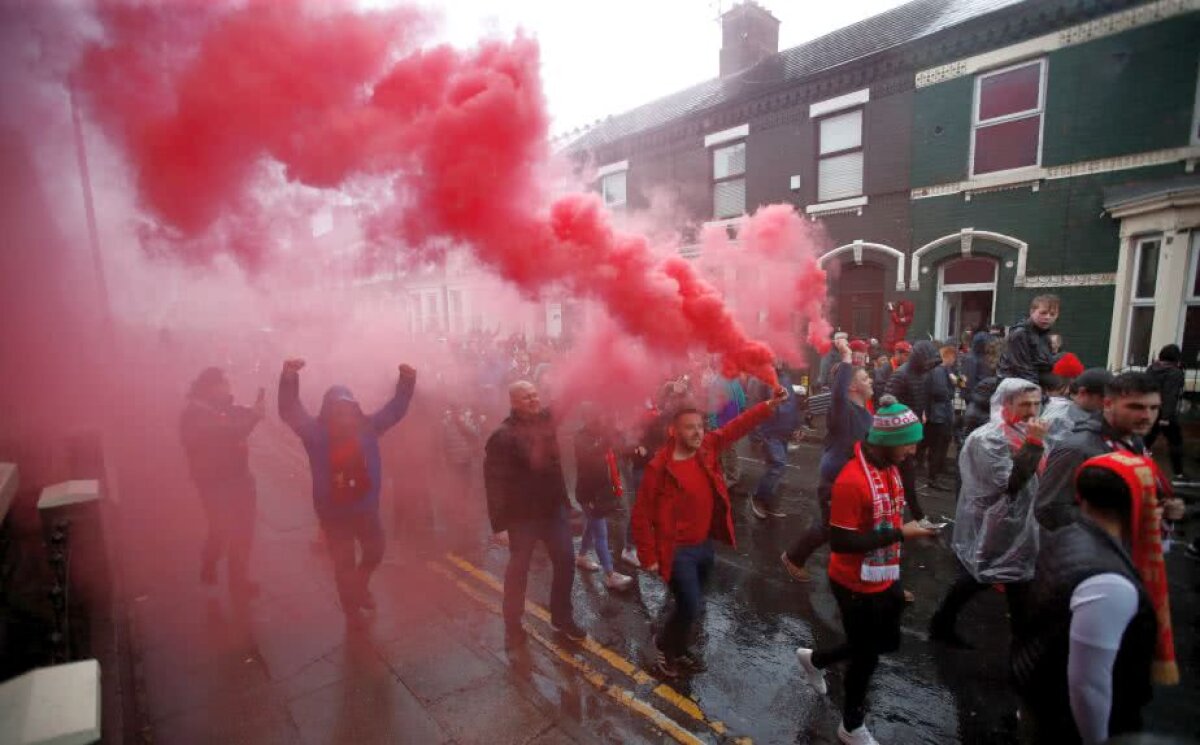
<svg viewBox="0 0 1200 745">
<path fill-rule="evenodd" d="M 500 582 L 498 577 L 496 577 L 487 570 L 475 566 L 467 559 L 454 553 L 446 554 L 446 561 L 457 570 L 460 570 L 463 575 L 472 577 L 473 579 L 478 581 L 479 583 L 484 584 L 485 587 L 496 593 L 503 594 L 504 584 Z M 499 605 L 497 605 L 497 602 L 492 597 L 487 596 L 485 593 L 481 593 L 479 589 L 476 589 L 475 585 L 463 582 L 460 578 L 460 575 L 456 575 L 455 572 L 450 571 L 449 569 L 446 569 L 440 564 L 431 563 L 430 566 L 434 571 L 449 577 L 468 596 L 476 600 L 478 602 L 491 609 L 493 613 L 500 613 Z M 551 621 L 550 611 L 547 611 L 542 606 L 532 601 L 526 601 L 526 609 L 534 618 L 546 624 L 550 624 Z M 581 659 L 578 655 L 572 654 L 568 649 L 564 649 L 554 641 L 546 638 L 535 630 L 530 629 L 529 636 L 534 638 L 539 644 L 548 649 L 554 656 L 560 659 L 563 662 L 577 669 L 583 675 L 584 680 L 590 683 L 596 689 L 604 691 L 607 696 L 610 696 L 622 705 L 650 720 L 650 722 L 655 727 L 668 734 L 677 743 L 692 745 L 692 744 L 702 744 L 704 741 L 697 738 L 695 734 L 680 727 L 678 723 L 676 723 L 673 719 L 671 719 L 659 709 L 655 709 L 649 703 L 646 703 L 640 698 L 637 698 L 634 691 L 626 687 L 622 687 L 620 685 L 617 685 L 614 683 L 610 683 L 608 679 L 601 672 L 595 669 L 595 667 L 593 667 L 586 659 Z M 622 656 L 620 654 L 600 644 L 592 637 L 588 637 L 582 643 L 580 643 L 580 648 L 594 655 L 595 657 L 602 660 L 605 663 L 608 665 L 608 667 L 612 667 L 617 672 L 631 679 L 635 685 L 643 685 L 654 681 L 654 678 L 649 673 L 641 669 L 637 665 L 635 665 L 626 657 Z M 654 687 L 654 695 L 658 698 L 671 704 L 674 709 L 677 709 L 685 716 L 708 727 L 715 734 L 721 735 L 722 738 L 728 734 L 728 731 L 726 729 L 722 722 L 710 720 L 708 716 L 706 716 L 704 711 L 700 708 L 700 705 L 695 701 L 676 691 L 671 686 L 660 683 Z M 737 745 L 751 745 L 749 738 L 737 738 L 733 741 Z"/>
</svg>

